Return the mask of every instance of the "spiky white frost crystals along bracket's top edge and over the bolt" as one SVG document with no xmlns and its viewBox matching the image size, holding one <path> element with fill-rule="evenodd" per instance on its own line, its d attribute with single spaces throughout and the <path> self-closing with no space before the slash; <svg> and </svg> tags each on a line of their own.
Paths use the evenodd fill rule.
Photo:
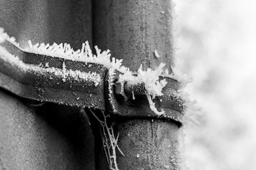
<svg viewBox="0 0 256 170">
<path fill-rule="evenodd" d="M 49 44 L 38 44 L 33 45 L 31 41 L 28 41 L 28 46 L 22 48 L 19 43 L 15 41 L 15 38 L 8 36 L 6 32 L 4 32 L 3 28 L 0 28 L 0 43 L 4 41 L 9 41 L 13 45 L 17 46 L 20 50 L 29 53 L 36 53 L 40 55 L 48 55 L 51 57 L 59 57 L 68 60 L 76 60 L 81 62 L 92 62 L 95 64 L 102 64 L 107 67 L 109 70 L 119 71 L 120 74 L 118 78 L 119 83 L 124 83 L 125 81 L 131 85 L 136 85 L 138 83 L 145 83 L 146 94 L 148 98 L 148 103 L 150 104 L 150 109 L 156 113 L 156 115 L 163 115 L 164 111 L 157 111 L 154 102 L 156 96 L 163 96 L 163 87 L 165 87 L 167 81 L 165 79 L 159 80 L 159 76 L 163 73 L 164 63 L 161 63 L 156 69 L 152 70 L 148 68 L 146 71 L 142 69 L 142 66 L 138 69 L 136 76 L 134 76 L 134 72 L 130 71 L 128 67 L 122 66 L 122 59 L 118 60 L 115 57 L 111 58 L 111 53 L 109 50 L 101 52 L 101 50 L 95 46 L 96 55 L 92 53 L 90 45 L 88 41 L 83 43 L 82 48 L 80 50 L 73 50 L 71 46 L 67 43 L 61 43 L 57 45 L 54 43 L 53 45 Z M 21 60 L 20 60 L 21 61 Z M 20 63 L 19 61 L 19 63 Z M 21 61 L 22 62 L 22 61 Z M 65 67 L 64 67 L 65 69 Z M 49 69 L 47 69 L 49 71 Z M 54 73 L 54 70 L 51 70 Z M 59 72 L 59 71 L 58 71 Z M 67 74 L 68 75 L 76 75 Z M 111 77 L 110 77 L 111 78 Z M 113 80 L 109 80 L 112 83 Z M 111 85 L 110 83 L 110 85 Z M 95 83 L 97 85 L 97 83 Z"/>
</svg>

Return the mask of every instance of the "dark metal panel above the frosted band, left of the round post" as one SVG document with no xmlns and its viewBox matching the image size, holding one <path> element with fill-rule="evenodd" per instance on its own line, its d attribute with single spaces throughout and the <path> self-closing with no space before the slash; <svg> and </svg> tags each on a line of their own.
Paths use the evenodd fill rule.
<svg viewBox="0 0 256 170">
<path fill-rule="evenodd" d="M 1 0 L 0 27 L 22 46 L 31 40 L 79 49 L 92 43 L 91 13 L 90 0 Z"/>
</svg>

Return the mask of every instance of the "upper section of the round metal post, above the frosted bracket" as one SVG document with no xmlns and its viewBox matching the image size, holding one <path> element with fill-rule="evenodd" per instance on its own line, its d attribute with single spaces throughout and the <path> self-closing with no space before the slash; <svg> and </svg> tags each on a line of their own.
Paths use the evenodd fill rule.
<svg viewBox="0 0 256 170">
<path fill-rule="evenodd" d="M 94 0 L 93 43 L 100 49 L 109 49 L 124 66 L 137 71 L 156 68 L 165 62 L 172 71 L 172 1 Z M 157 58 L 155 50 L 161 57 Z"/>
</svg>

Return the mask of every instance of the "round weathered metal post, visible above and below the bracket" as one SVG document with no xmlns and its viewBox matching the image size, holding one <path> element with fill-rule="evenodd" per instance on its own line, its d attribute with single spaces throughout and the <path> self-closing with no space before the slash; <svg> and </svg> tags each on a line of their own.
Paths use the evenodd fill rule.
<svg viewBox="0 0 256 170">
<path fill-rule="evenodd" d="M 93 43 L 100 49 L 111 50 L 132 71 L 140 64 L 154 69 L 160 62 L 172 71 L 172 1 L 96 0 L 92 11 Z M 119 169 L 179 169 L 179 127 L 172 120 L 119 118 L 114 128 L 125 155 L 117 157 Z M 102 148 L 97 157 L 98 168 L 108 169 Z"/>
</svg>

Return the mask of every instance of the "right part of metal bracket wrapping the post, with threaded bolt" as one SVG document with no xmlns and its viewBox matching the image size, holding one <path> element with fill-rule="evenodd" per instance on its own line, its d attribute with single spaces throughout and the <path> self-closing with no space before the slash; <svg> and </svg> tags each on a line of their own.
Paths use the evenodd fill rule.
<svg viewBox="0 0 256 170">
<path fill-rule="evenodd" d="M 177 90 L 180 87 L 180 83 L 177 80 L 167 77 L 168 82 L 163 88 L 163 96 L 157 96 L 153 100 L 157 110 L 164 111 L 163 115 L 156 115 L 154 111 L 150 109 L 148 99 L 146 97 L 146 89 L 143 83 L 138 85 L 122 85 L 118 82 L 118 74 L 115 74 L 113 81 L 114 85 L 111 87 L 113 93 L 108 94 L 110 97 L 109 105 L 112 107 L 110 111 L 120 115 L 122 117 L 148 117 L 148 118 L 167 118 L 182 122 L 184 102 L 177 96 Z M 108 81 L 106 81 L 108 83 Z M 134 96 L 135 99 L 132 99 Z M 140 114 L 138 114 L 140 113 Z"/>
</svg>

